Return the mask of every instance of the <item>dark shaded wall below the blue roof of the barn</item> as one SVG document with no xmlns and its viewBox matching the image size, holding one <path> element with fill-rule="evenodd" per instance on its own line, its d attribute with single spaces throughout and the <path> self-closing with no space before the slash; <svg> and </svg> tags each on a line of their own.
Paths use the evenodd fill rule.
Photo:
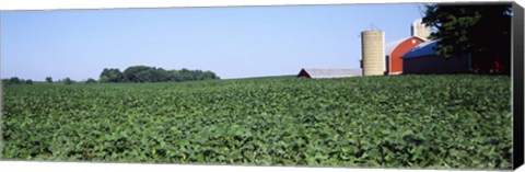
<svg viewBox="0 0 525 172">
<path fill-rule="evenodd" d="M 404 73 L 458 73 L 470 71 L 470 57 L 452 57 L 444 59 L 438 56 L 405 58 Z"/>
</svg>

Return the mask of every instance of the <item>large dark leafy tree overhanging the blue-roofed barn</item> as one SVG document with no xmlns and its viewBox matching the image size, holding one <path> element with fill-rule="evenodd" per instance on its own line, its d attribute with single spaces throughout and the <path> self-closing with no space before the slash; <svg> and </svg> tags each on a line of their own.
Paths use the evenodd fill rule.
<svg viewBox="0 0 525 172">
<path fill-rule="evenodd" d="M 510 72 L 511 4 L 428 4 L 422 22 L 439 39 L 435 50 L 444 58 L 471 54 L 475 66 L 501 62 Z"/>
</svg>

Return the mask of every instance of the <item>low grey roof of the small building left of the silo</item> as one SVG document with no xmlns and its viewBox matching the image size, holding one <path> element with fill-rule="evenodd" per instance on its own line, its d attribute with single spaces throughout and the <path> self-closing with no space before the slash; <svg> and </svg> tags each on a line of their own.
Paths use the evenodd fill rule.
<svg viewBox="0 0 525 172">
<path fill-rule="evenodd" d="M 303 68 L 301 72 L 306 72 L 310 78 L 342 78 L 342 77 L 354 77 L 361 76 L 361 69 L 323 69 L 323 68 Z"/>
</svg>

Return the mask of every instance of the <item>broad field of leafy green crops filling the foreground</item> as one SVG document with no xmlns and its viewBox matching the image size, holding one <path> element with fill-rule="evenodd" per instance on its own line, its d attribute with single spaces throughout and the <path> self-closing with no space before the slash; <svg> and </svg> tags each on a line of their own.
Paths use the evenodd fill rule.
<svg viewBox="0 0 525 172">
<path fill-rule="evenodd" d="M 3 159 L 510 169 L 505 76 L 3 85 Z"/>
</svg>

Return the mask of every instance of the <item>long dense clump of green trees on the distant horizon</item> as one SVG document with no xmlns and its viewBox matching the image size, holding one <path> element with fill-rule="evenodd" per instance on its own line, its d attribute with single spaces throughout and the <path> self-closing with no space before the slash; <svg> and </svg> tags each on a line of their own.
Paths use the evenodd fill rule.
<svg viewBox="0 0 525 172">
<path fill-rule="evenodd" d="M 100 82 L 168 82 L 168 81 L 196 81 L 220 79 L 212 71 L 202 70 L 165 70 L 148 66 L 132 66 L 120 72 L 116 68 L 105 68 Z"/>
</svg>

